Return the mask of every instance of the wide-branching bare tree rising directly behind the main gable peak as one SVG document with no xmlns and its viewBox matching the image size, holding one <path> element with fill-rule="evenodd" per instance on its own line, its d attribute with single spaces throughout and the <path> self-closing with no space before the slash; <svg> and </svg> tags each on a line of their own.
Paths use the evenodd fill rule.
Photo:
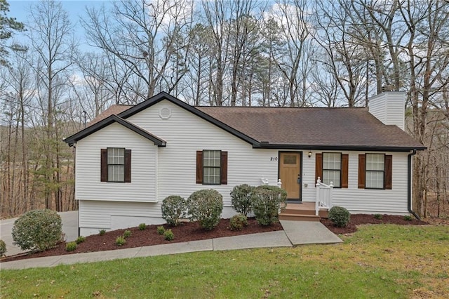
<svg viewBox="0 0 449 299">
<path fill-rule="evenodd" d="M 110 12 L 88 8 L 82 24 L 93 46 L 129 69 L 132 75 L 121 84 L 146 99 L 158 90 L 173 91 L 182 77 L 166 80 L 175 72 L 170 68 L 173 57 L 187 46 L 180 43 L 179 34 L 191 24 L 192 9 L 187 0 L 122 0 L 114 2 Z"/>
</svg>

